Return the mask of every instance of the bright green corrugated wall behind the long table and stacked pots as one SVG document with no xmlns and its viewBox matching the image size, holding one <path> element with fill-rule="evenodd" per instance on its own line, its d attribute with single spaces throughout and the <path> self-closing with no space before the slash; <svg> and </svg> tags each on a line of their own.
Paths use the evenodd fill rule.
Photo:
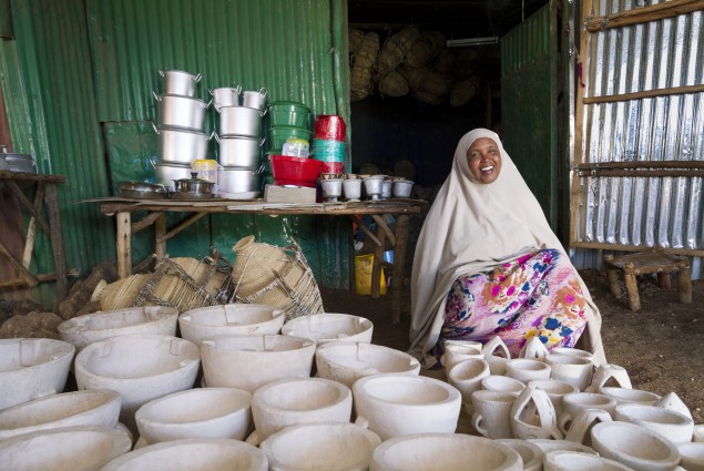
<svg viewBox="0 0 704 471">
<path fill-rule="evenodd" d="M 205 101 L 216 86 L 265 88 L 269 102 L 297 101 L 349 122 L 341 0 L 88 0 L 86 8 L 113 185 L 151 173 L 157 142 L 150 124 L 156 117 L 152 91 L 162 90 L 160 70 L 201 73 L 197 96 Z M 211 109 L 208 133 L 214 115 Z M 213 141 L 211 153 L 214 147 Z M 245 235 L 273 244 L 294 236 L 319 283 L 347 287 L 348 228 L 339 218 L 213 215 L 170 240 L 169 253 L 204 256 L 213 245 L 233 259 L 231 247 Z M 140 234 L 135 258 L 152 246 L 151 234 Z"/>
</svg>

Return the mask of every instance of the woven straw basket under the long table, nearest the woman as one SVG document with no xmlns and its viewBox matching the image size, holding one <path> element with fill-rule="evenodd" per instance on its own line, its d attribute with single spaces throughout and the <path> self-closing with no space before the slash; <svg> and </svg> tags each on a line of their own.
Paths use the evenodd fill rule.
<svg viewBox="0 0 704 471">
<path fill-rule="evenodd" d="M 286 247 L 242 238 L 233 250 L 233 300 L 264 304 L 286 313 L 286 320 L 323 313 L 323 299 L 310 267 L 295 240 Z"/>
</svg>

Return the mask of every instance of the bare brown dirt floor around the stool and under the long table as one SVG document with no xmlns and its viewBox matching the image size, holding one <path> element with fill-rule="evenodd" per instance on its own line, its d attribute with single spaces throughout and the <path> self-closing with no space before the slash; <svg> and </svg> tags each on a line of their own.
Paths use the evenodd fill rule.
<svg viewBox="0 0 704 471">
<path fill-rule="evenodd" d="M 583 273 L 603 319 L 602 337 L 609 362 L 624 367 L 633 387 L 659 395 L 675 392 L 704 423 L 704 280 L 693 283 L 693 303 L 677 301 L 676 288 L 660 289 L 653 278 L 639 280 L 641 310 L 609 291 L 605 275 Z M 676 284 L 673 284 L 676 285 Z M 390 321 L 390 298 L 371 299 L 351 291 L 322 289 L 325 310 L 369 318 L 375 344 L 406 350 L 410 295 L 405 293 L 400 325 Z"/>
</svg>

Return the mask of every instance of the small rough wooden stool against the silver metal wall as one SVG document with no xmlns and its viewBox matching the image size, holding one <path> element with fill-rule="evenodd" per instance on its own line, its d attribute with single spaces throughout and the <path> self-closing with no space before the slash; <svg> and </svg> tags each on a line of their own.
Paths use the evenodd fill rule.
<svg viewBox="0 0 704 471">
<path fill-rule="evenodd" d="M 661 288 L 669 288 L 670 274 L 676 272 L 680 303 L 692 303 L 692 275 L 690 274 L 690 259 L 686 257 L 677 257 L 662 250 L 622 255 L 615 258 L 613 255 L 605 255 L 604 268 L 606 269 L 606 279 L 609 279 L 609 289 L 616 297 L 621 296 L 619 270 L 623 273 L 631 310 L 641 308 L 635 277 L 650 273 L 657 274 L 657 284 Z"/>
</svg>

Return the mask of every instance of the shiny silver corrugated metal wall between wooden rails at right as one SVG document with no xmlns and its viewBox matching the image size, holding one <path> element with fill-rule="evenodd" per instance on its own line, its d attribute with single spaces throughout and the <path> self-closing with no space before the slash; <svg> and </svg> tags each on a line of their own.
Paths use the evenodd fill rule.
<svg viewBox="0 0 704 471">
<path fill-rule="evenodd" d="M 642 2 L 596 4 L 590 14 L 602 17 Z M 584 96 L 703 84 L 703 19 L 700 10 L 593 33 L 582 51 Z M 583 162 L 704 160 L 704 93 L 584 104 L 583 113 Z M 578 240 L 704 248 L 701 177 L 586 176 L 580 184 Z"/>
</svg>

